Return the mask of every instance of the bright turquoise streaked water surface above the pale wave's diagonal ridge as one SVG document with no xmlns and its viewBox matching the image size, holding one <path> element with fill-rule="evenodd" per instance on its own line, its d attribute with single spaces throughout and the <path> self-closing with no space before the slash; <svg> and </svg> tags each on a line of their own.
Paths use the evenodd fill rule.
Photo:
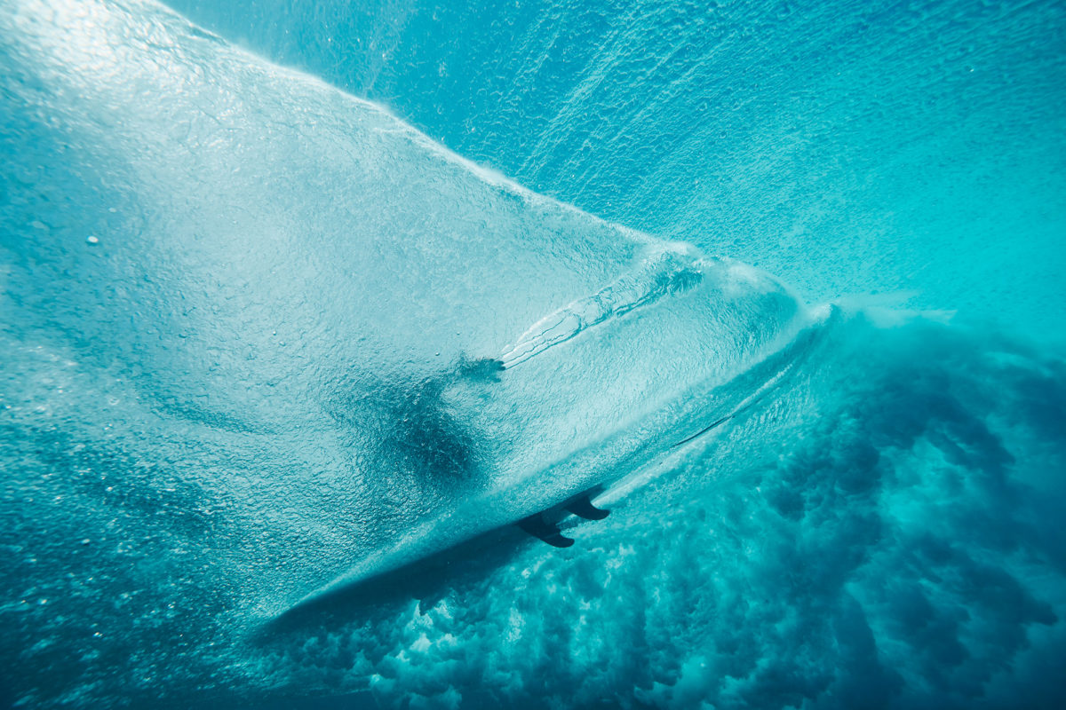
<svg viewBox="0 0 1066 710">
<path fill-rule="evenodd" d="M 169 0 L 523 185 L 1062 343 L 1056 0 Z"/>
</svg>

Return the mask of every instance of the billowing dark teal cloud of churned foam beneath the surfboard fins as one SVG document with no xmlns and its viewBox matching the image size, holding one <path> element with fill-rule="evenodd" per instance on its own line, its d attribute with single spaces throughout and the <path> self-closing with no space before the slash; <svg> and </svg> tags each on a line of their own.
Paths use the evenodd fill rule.
<svg viewBox="0 0 1066 710">
<path fill-rule="evenodd" d="M 304 629 L 358 650 L 272 673 L 372 673 L 383 707 L 1059 704 L 1062 361 L 861 316 L 805 358 L 574 548 L 470 562 L 424 615 Z"/>
</svg>

